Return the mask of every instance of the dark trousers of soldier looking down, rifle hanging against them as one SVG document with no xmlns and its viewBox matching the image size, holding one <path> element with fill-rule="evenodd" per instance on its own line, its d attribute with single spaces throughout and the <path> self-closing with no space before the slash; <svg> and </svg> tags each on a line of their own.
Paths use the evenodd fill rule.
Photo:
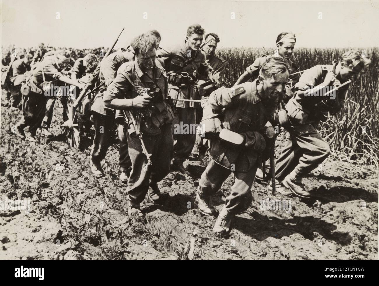
<svg viewBox="0 0 379 286">
<path fill-rule="evenodd" d="M 133 203 L 141 203 L 144 200 L 149 191 L 150 180 L 158 183 L 169 173 L 174 143 L 171 123 L 163 125 L 161 131 L 158 135 L 143 134 L 147 152 L 151 154 L 151 166 L 147 166 L 147 158 L 142 153 L 141 141 L 135 133 L 130 135 L 126 132 L 129 156 L 132 161 L 127 193 L 129 200 Z"/>
</svg>

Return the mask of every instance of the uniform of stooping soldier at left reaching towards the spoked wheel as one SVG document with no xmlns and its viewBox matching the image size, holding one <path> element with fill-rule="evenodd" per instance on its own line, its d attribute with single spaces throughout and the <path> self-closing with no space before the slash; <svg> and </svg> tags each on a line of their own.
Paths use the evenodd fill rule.
<svg viewBox="0 0 379 286">
<path fill-rule="evenodd" d="M 56 81 L 63 77 L 61 69 L 58 65 L 56 56 L 45 57 L 31 73 L 27 80 L 27 85 L 30 86 L 30 93 L 22 97 L 22 112 L 23 117 L 17 124 L 17 127 L 24 129 L 29 126 L 29 132 L 34 136 L 39 127 L 49 128 L 52 114 L 47 102 L 51 97 L 47 97 L 42 90 L 41 84 L 46 81 Z M 47 118 L 48 120 L 42 122 Z"/>
</svg>

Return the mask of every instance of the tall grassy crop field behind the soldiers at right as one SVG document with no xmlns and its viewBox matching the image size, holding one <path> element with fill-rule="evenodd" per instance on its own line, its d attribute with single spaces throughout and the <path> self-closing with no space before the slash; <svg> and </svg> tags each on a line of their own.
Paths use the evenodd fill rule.
<svg viewBox="0 0 379 286">
<path fill-rule="evenodd" d="M 348 49 L 295 50 L 293 62 L 300 70 L 317 64 L 331 64 Z M 334 155 L 357 164 L 378 166 L 379 154 L 379 49 L 358 48 L 371 59 L 370 66 L 351 84 L 345 108 L 337 116 L 321 123 L 321 133 L 326 138 Z M 218 55 L 226 61 L 225 81 L 228 86 L 235 83 L 254 59 L 263 54 L 272 55 L 274 49 L 223 48 Z"/>
</svg>

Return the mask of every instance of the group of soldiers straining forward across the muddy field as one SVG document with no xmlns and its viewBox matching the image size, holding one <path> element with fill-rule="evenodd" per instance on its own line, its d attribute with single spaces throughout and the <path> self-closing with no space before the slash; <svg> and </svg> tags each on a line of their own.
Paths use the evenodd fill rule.
<svg viewBox="0 0 379 286">
<path fill-rule="evenodd" d="M 272 188 L 283 195 L 310 197 L 301 179 L 330 153 L 316 128 L 328 114 L 343 108 L 349 83 L 370 60 L 351 50 L 333 64 L 301 72 L 292 62 L 295 35 L 280 33 L 276 52 L 255 59 L 228 88 L 223 83 L 225 62 L 215 55 L 220 41 L 217 34 L 205 34 L 195 24 L 188 27 L 183 42 L 171 49 L 161 48 L 160 41 L 158 31 L 148 31 L 99 63 L 93 53 L 78 58 L 69 73 L 63 72 L 70 61 L 66 51 L 45 54 L 28 77 L 24 74 L 33 56 L 14 61 L 13 83 L 19 90 L 10 105 L 17 105 L 16 100 L 22 97 L 23 112 L 14 133 L 20 139 L 35 141 L 38 128 L 48 130 L 54 103 L 43 94 L 46 83 L 77 86 L 80 95 L 103 85 L 89 99 L 95 129 L 90 168 L 97 178 L 103 176 L 101 161 L 117 124 L 118 174 L 119 180 L 127 183 L 130 216 L 144 216 L 140 204 L 146 195 L 153 203 L 164 203 L 157 183 L 170 169 L 190 175 L 183 162 L 191 155 L 196 134 L 174 133 L 177 124 L 205 127 L 199 158 L 207 151 L 210 160 L 195 200 L 202 214 L 217 216 L 215 233 L 229 232 L 233 216 L 251 205 L 252 183 L 262 180 L 262 161 L 272 146 L 269 126 L 287 131 Z M 83 83 L 80 79 L 85 75 Z M 326 87 L 332 93 L 327 93 Z M 284 104 L 283 119 L 279 109 Z M 24 132 L 27 126 L 28 134 Z M 210 198 L 231 173 L 235 180 L 230 194 L 216 213 Z"/>
</svg>

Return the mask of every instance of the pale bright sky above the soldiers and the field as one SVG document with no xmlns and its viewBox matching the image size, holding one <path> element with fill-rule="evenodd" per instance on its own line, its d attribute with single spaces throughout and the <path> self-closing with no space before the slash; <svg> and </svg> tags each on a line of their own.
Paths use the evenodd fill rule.
<svg viewBox="0 0 379 286">
<path fill-rule="evenodd" d="M 297 47 L 379 47 L 377 0 L 2 0 L 1 14 L 3 46 L 109 47 L 125 27 L 116 48 L 151 29 L 164 47 L 199 23 L 219 35 L 219 47 L 274 47 L 282 31 L 296 34 Z"/>
</svg>

